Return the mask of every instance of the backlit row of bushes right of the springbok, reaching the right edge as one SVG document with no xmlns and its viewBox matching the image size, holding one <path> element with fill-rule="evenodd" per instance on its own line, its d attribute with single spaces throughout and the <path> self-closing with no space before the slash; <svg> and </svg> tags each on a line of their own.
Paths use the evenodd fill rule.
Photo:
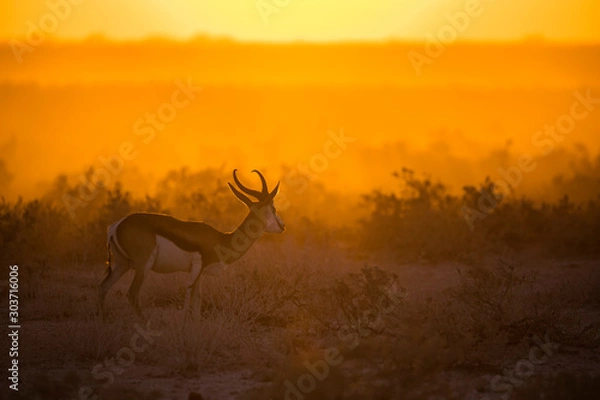
<svg viewBox="0 0 600 400">
<path fill-rule="evenodd" d="M 363 196 L 370 211 L 359 223 L 356 243 L 368 251 L 429 262 L 506 249 L 558 257 L 600 254 L 594 239 L 600 234 L 600 197 L 575 203 L 565 195 L 555 204 L 535 203 L 503 196 L 489 179 L 479 187 L 463 187 L 457 196 L 408 169 L 394 176 L 398 191 Z M 487 199 L 483 211 L 482 196 Z"/>
</svg>

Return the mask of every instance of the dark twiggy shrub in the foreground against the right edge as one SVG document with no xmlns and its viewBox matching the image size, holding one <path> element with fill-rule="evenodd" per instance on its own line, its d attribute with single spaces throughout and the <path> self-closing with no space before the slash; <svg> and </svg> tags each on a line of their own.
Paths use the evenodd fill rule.
<svg viewBox="0 0 600 400">
<path fill-rule="evenodd" d="M 477 343 L 504 336 L 504 345 L 515 345 L 550 334 L 563 344 L 598 344 L 598 328 L 575 311 L 587 301 L 578 295 L 578 287 L 568 282 L 540 286 L 536 274 L 505 259 L 459 273 L 461 282 L 450 295 L 464 329 Z"/>
</svg>

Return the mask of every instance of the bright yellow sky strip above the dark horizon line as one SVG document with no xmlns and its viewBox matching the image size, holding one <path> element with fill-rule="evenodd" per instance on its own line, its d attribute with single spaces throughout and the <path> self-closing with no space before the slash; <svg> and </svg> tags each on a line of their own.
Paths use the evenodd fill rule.
<svg viewBox="0 0 600 400">
<path fill-rule="evenodd" d="M 479 1 L 481 12 L 460 39 L 600 41 L 597 0 L 22 0 L 2 2 L 0 38 L 25 37 L 28 21 L 39 26 L 55 4 L 64 15 L 49 30 L 61 39 L 210 34 L 261 41 L 412 40 L 435 34 L 448 23 L 446 14 L 469 1 Z M 262 17 L 257 4 L 266 7 Z M 282 6 L 267 15 L 273 4 Z"/>
</svg>

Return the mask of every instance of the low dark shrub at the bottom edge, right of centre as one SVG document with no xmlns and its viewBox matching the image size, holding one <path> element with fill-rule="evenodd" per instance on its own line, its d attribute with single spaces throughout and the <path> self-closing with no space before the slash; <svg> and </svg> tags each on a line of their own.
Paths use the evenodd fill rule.
<svg viewBox="0 0 600 400">
<path fill-rule="evenodd" d="M 371 365 L 373 379 L 385 382 L 397 398 L 448 396 L 446 389 L 437 387 L 437 377 L 447 370 L 480 363 L 474 352 L 476 341 L 447 294 L 421 301 L 409 293 L 393 317 L 382 335 L 361 341 L 348 358 Z"/>
</svg>

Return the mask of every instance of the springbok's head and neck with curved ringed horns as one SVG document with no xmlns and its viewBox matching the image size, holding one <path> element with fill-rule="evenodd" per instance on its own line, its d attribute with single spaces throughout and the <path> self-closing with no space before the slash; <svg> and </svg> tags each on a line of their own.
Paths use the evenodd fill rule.
<svg viewBox="0 0 600 400">
<path fill-rule="evenodd" d="M 262 221 L 265 232 L 282 233 L 285 230 L 285 225 L 281 218 L 279 218 L 279 215 L 277 215 L 277 210 L 275 210 L 275 206 L 273 205 L 273 199 L 279 191 L 280 182 L 277 182 L 275 188 L 269 192 L 265 177 L 255 169 L 252 170 L 252 172 L 256 172 L 260 178 L 260 181 L 262 183 L 262 188 L 260 191 L 250 189 L 244 186 L 236 175 L 237 169 L 233 170 L 233 180 L 240 189 L 238 190 L 231 183 L 227 184 L 229 185 L 229 188 L 231 189 L 235 197 L 237 197 L 242 203 L 244 203 L 252 212 L 258 213 L 260 215 L 260 220 Z M 246 195 L 253 196 L 254 198 L 256 198 L 257 201 L 251 200 Z"/>
</svg>

